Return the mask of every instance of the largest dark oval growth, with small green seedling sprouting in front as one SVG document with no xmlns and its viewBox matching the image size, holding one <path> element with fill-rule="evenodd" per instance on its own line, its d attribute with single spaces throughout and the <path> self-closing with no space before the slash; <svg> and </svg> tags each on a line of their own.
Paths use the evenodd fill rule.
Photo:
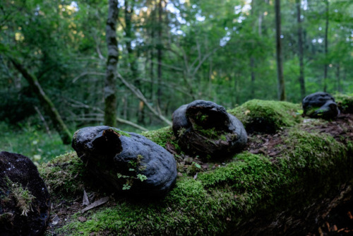
<svg viewBox="0 0 353 236">
<path fill-rule="evenodd" d="M 79 129 L 78 157 L 103 186 L 138 197 L 164 196 L 177 179 L 174 156 L 148 138 L 109 126 Z"/>
</svg>

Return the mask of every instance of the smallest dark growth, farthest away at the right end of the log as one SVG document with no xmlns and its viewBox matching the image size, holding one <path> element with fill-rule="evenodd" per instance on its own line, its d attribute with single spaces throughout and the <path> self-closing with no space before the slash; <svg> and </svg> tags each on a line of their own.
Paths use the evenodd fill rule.
<svg viewBox="0 0 353 236">
<path fill-rule="evenodd" d="M 335 98 L 328 93 L 312 93 L 302 103 L 304 114 L 311 118 L 332 119 L 340 114 Z"/>
</svg>

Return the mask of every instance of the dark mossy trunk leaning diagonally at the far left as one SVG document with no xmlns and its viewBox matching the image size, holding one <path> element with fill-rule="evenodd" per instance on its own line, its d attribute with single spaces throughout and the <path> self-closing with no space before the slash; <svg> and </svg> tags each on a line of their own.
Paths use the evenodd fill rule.
<svg viewBox="0 0 353 236">
<path fill-rule="evenodd" d="M 38 82 L 37 78 L 29 73 L 16 59 L 10 59 L 13 66 L 20 71 L 22 76 L 28 81 L 30 84 L 30 89 L 38 96 L 41 105 L 44 107 L 45 113 L 47 113 L 54 124 L 56 131 L 58 131 L 61 141 L 64 144 L 71 143 L 71 133 L 68 131 L 64 121 L 61 119 L 59 112 L 56 110 L 54 103 L 42 90 L 42 86 Z"/>
</svg>

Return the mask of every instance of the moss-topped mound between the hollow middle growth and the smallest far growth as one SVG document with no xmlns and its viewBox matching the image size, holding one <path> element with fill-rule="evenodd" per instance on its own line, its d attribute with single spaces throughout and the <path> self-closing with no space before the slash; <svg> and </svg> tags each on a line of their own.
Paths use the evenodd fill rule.
<svg viewBox="0 0 353 236">
<path fill-rule="evenodd" d="M 246 131 L 273 133 L 300 122 L 300 110 L 300 105 L 290 102 L 250 100 L 227 112 L 237 117 Z"/>
</svg>

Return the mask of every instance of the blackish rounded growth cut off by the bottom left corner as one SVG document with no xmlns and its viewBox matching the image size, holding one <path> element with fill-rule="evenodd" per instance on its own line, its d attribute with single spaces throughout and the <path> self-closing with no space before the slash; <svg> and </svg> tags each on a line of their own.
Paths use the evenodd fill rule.
<svg viewBox="0 0 353 236">
<path fill-rule="evenodd" d="M 0 153 L 0 235 L 42 235 L 51 203 L 37 167 L 24 155 Z"/>
</svg>

